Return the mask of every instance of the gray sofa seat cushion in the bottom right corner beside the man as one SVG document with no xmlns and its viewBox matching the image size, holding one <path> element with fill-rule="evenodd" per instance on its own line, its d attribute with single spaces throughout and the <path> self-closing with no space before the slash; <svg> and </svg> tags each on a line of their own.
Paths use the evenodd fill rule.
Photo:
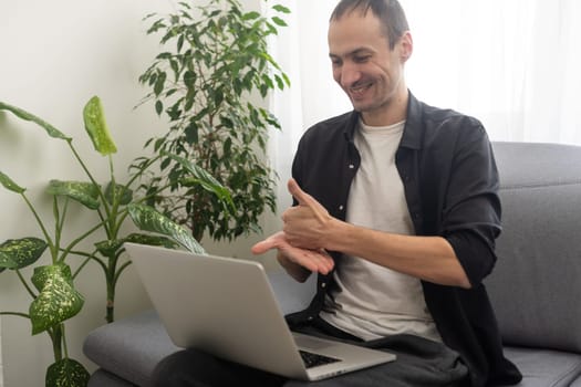
<svg viewBox="0 0 581 387">
<path fill-rule="evenodd" d="M 522 373 L 522 381 L 515 387 L 570 386 L 581 375 L 581 355 L 579 354 L 506 347 L 505 355 Z"/>
</svg>

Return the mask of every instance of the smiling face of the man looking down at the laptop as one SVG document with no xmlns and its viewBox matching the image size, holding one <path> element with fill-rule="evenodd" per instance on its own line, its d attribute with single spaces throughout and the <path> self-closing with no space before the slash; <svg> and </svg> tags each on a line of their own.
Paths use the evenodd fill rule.
<svg viewBox="0 0 581 387">
<path fill-rule="evenodd" d="M 371 11 L 365 15 L 357 10 L 347 12 L 329 25 L 333 77 L 367 125 L 391 124 L 385 121 L 407 95 L 403 65 L 411 52 L 408 33 L 390 50 L 380 20 Z"/>
</svg>

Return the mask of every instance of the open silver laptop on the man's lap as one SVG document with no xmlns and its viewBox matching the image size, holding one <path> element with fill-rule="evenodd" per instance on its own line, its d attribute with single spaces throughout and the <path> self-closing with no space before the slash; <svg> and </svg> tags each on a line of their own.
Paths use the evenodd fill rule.
<svg viewBox="0 0 581 387">
<path fill-rule="evenodd" d="M 135 243 L 125 249 L 178 347 L 301 380 L 395 359 L 386 352 L 291 332 L 259 262 Z"/>
</svg>

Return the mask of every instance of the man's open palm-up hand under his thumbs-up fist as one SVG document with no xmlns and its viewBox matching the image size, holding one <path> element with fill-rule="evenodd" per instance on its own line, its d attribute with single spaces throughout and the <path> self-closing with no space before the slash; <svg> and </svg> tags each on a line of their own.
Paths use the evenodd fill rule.
<svg viewBox="0 0 581 387">
<path fill-rule="evenodd" d="M 253 254 L 277 249 L 279 263 L 297 281 L 304 282 L 311 272 L 329 274 L 333 270 L 334 261 L 324 250 L 307 250 L 292 247 L 284 236 L 284 232 L 277 232 L 251 249 Z"/>
</svg>

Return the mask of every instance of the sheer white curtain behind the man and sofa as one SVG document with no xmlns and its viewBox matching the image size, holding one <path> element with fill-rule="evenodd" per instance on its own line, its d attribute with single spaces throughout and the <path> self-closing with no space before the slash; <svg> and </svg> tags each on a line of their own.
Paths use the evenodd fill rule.
<svg viewBox="0 0 581 387">
<path fill-rule="evenodd" d="M 292 86 L 273 96 L 282 132 L 270 151 L 286 181 L 302 132 L 351 105 L 332 81 L 328 57 L 336 0 L 279 2 L 292 13 L 272 49 Z M 414 38 L 406 80 L 419 100 L 476 116 L 494 140 L 581 144 L 581 1 L 401 3 Z"/>
</svg>

